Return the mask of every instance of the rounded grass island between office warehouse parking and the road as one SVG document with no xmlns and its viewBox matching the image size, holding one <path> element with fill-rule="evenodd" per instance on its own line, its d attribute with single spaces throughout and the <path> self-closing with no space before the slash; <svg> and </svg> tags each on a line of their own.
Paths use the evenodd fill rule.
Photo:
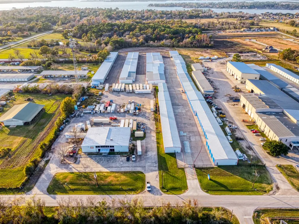
<svg viewBox="0 0 299 224">
<path fill-rule="evenodd" d="M 139 194 L 145 190 L 145 174 L 140 171 L 58 173 L 51 180 L 49 194 Z"/>
</svg>

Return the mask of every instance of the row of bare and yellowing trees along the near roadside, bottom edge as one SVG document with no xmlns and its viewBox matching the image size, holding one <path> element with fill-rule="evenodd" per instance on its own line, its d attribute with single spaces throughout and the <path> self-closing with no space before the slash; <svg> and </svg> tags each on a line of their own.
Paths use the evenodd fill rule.
<svg viewBox="0 0 299 224">
<path fill-rule="evenodd" d="M 30 224 L 232 224 L 239 223 L 236 217 L 225 208 L 203 208 L 197 200 L 187 199 L 174 206 L 170 202 L 152 199 L 152 207 L 145 208 L 142 198 L 131 200 L 101 200 L 94 197 L 86 200 L 80 197 L 66 198 L 58 201 L 55 208 L 47 208 L 45 201 L 33 196 L 28 200 L 16 197 L 5 200 L 0 196 L 0 223 Z M 161 206 L 157 206 L 162 203 Z M 231 220 L 230 220 L 231 219 Z"/>
</svg>

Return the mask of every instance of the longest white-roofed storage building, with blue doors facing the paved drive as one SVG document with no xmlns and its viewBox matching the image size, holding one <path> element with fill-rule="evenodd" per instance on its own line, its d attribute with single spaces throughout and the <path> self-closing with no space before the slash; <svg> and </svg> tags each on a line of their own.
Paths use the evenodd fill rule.
<svg viewBox="0 0 299 224">
<path fill-rule="evenodd" d="M 175 53 L 172 54 L 176 55 Z M 175 57 L 173 58 L 175 59 Z M 178 66 L 176 63 L 177 75 L 185 90 L 191 110 L 202 128 L 213 163 L 215 165 L 237 165 L 238 157 L 231 148 L 208 104 L 190 79 L 186 66 L 180 65 Z"/>
</svg>

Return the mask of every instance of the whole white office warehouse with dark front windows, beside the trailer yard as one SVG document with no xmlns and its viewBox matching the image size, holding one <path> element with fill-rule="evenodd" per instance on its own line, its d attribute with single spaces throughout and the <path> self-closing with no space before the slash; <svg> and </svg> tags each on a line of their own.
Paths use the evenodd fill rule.
<svg viewBox="0 0 299 224">
<path fill-rule="evenodd" d="M 89 128 L 82 142 L 82 152 L 128 152 L 131 128 L 93 127 Z"/>
</svg>

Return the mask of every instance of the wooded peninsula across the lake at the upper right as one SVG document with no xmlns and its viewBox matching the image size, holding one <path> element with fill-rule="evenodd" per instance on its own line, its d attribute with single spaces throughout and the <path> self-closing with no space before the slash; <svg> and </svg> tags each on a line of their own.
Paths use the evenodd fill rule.
<svg viewBox="0 0 299 224">
<path fill-rule="evenodd" d="M 149 7 L 184 7 L 184 8 L 217 8 L 217 9 L 299 9 L 299 2 L 293 1 L 223 1 L 223 2 L 178 2 L 155 3 Z"/>
</svg>

